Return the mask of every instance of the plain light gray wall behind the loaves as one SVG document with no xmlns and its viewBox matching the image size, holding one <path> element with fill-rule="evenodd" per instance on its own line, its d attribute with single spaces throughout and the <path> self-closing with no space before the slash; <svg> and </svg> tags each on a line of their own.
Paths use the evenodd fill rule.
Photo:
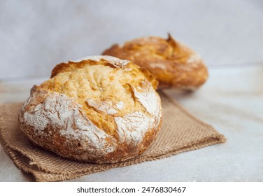
<svg viewBox="0 0 263 196">
<path fill-rule="evenodd" d="M 210 68 L 263 62 L 263 1 L 0 0 L 0 79 L 49 76 L 59 62 L 167 32 Z"/>
</svg>

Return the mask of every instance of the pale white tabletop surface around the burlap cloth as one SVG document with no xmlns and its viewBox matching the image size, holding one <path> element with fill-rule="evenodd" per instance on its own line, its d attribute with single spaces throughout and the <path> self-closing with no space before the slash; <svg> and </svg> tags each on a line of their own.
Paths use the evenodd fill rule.
<svg viewBox="0 0 263 196">
<path fill-rule="evenodd" d="M 208 82 L 196 92 L 166 93 L 225 134 L 227 143 L 72 181 L 263 181 L 263 64 L 209 71 Z M 0 102 L 24 101 L 31 85 L 43 80 L 0 83 Z M 0 157 L 0 181 L 32 181 L 1 146 Z"/>
</svg>

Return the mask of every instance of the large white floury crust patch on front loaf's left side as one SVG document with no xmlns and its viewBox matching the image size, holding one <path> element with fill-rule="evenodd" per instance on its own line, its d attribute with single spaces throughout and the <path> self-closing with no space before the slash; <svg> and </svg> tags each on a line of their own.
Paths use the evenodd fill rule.
<svg viewBox="0 0 263 196">
<path fill-rule="evenodd" d="M 34 93 L 33 97 L 29 98 L 28 102 L 24 104 L 23 109 L 25 106 L 30 105 L 31 100 L 37 96 L 38 93 Z M 75 104 L 73 99 L 67 97 L 66 94 L 57 92 L 48 94 L 42 103 L 24 111 L 23 118 L 24 120 L 21 120 L 26 125 L 34 127 L 34 134 L 41 137 L 52 137 L 54 133 L 45 130 L 48 125 L 51 125 L 59 130 L 59 134 L 69 139 L 69 143 L 71 143 L 70 140 L 87 141 L 87 144 L 89 144 L 87 151 L 91 153 L 94 151 L 106 154 L 115 150 L 113 143 L 108 144 L 106 141 L 106 137 L 113 138 L 84 116 L 81 112 L 81 106 Z"/>
</svg>

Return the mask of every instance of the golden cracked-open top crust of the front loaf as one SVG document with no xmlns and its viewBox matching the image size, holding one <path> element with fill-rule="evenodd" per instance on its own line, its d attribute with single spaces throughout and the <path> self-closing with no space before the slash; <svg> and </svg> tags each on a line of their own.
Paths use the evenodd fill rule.
<svg viewBox="0 0 263 196">
<path fill-rule="evenodd" d="M 153 92 L 152 86 L 156 89 L 157 80 L 132 62 L 94 56 L 58 64 L 40 88 L 73 98 L 94 125 L 117 136 L 115 117 L 143 111 L 149 100 L 144 102 L 143 97 L 140 98 L 145 93 L 140 89 Z M 152 106 L 149 104 L 147 109 L 151 110 Z"/>
</svg>

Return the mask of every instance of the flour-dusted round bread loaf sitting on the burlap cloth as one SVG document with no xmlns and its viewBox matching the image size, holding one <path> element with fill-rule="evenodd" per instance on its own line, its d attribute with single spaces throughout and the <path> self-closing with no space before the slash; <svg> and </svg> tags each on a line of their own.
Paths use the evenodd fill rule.
<svg viewBox="0 0 263 196">
<path fill-rule="evenodd" d="M 134 158 L 155 140 L 162 121 L 157 80 L 109 56 L 62 63 L 34 85 L 19 115 L 27 138 L 65 158 L 113 163 Z"/>
</svg>

